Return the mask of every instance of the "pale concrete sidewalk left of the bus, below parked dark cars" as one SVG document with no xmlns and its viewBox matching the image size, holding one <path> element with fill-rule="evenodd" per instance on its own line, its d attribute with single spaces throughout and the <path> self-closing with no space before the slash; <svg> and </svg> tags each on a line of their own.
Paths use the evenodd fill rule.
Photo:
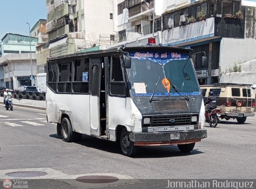
<svg viewBox="0 0 256 189">
<path fill-rule="evenodd" d="M 34 109 L 46 110 L 46 101 L 44 100 L 31 100 L 31 99 L 13 99 L 13 106 L 30 107 Z M 4 103 L 4 97 L 0 97 L 0 104 Z"/>
</svg>

